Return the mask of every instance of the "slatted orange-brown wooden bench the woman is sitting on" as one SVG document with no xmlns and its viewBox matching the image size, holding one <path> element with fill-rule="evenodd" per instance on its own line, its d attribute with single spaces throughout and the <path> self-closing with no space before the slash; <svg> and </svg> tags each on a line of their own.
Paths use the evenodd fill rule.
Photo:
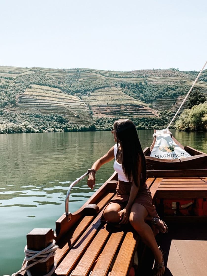
<svg viewBox="0 0 207 276">
<path fill-rule="evenodd" d="M 154 180 L 147 179 L 148 187 Z M 99 207 L 96 215 L 86 214 L 59 238 L 55 255 L 56 275 L 129 274 L 140 237 L 130 224 L 116 228 L 101 221 L 104 208 L 114 195 L 115 191 L 104 194 L 95 203 Z"/>
</svg>

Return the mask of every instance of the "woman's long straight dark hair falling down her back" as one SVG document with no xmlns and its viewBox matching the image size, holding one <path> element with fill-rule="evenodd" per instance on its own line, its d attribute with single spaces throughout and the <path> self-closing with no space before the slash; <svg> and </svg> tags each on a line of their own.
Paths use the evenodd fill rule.
<svg viewBox="0 0 207 276">
<path fill-rule="evenodd" d="M 115 121 L 114 131 L 116 133 L 118 150 L 118 144 L 122 147 L 122 169 L 127 180 L 131 182 L 133 179 L 137 187 L 139 187 L 139 185 L 144 185 L 146 181 L 146 161 L 135 125 L 131 120 L 120 119 Z M 140 176 L 138 175 L 139 162 L 142 164 Z"/>
</svg>

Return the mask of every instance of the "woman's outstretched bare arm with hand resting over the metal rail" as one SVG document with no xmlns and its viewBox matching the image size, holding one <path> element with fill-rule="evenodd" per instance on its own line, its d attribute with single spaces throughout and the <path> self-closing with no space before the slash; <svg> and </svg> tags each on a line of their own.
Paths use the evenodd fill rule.
<svg viewBox="0 0 207 276">
<path fill-rule="evenodd" d="M 98 171 L 98 169 L 100 169 L 103 164 L 108 163 L 112 159 L 114 159 L 114 146 L 110 148 L 110 150 L 104 156 L 96 160 L 95 163 L 93 163 L 91 169 L 95 169 L 96 171 Z M 95 172 L 92 171 L 89 173 L 88 176 L 88 187 L 93 189 L 93 187 L 95 186 L 95 180 Z"/>
</svg>

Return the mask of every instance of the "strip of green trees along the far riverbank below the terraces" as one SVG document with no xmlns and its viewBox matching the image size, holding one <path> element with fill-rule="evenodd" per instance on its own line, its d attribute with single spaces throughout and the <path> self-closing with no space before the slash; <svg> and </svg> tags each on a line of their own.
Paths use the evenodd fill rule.
<svg viewBox="0 0 207 276">
<path fill-rule="evenodd" d="M 0 134 L 35 132 L 72 132 L 111 130 L 115 120 L 120 118 L 97 118 L 89 125 L 78 125 L 61 115 L 40 113 L 14 113 L 0 111 Z M 166 126 L 167 116 L 163 118 L 130 118 L 137 129 L 162 129 Z"/>
</svg>

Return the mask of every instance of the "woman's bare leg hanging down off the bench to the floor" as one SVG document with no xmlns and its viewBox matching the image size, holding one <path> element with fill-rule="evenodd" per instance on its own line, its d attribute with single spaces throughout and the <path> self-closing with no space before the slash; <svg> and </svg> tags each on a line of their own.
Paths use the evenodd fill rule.
<svg viewBox="0 0 207 276">
<path fill-rule="evenodd" d="M 143 242 L 152 250 L 155 262 L 160 264 L 163 261 L 162 253 L 158 248 L 151 227 L 145 222 L 147 216 L 148 212 L 146 208 L 139 203 L 134 203 L 131 208 L 129 221 L 133 228 L 138 232 Z M 163 275 L 164 271 L 164 267 L 159 269 L 156 276 Z"/>
</svg>

